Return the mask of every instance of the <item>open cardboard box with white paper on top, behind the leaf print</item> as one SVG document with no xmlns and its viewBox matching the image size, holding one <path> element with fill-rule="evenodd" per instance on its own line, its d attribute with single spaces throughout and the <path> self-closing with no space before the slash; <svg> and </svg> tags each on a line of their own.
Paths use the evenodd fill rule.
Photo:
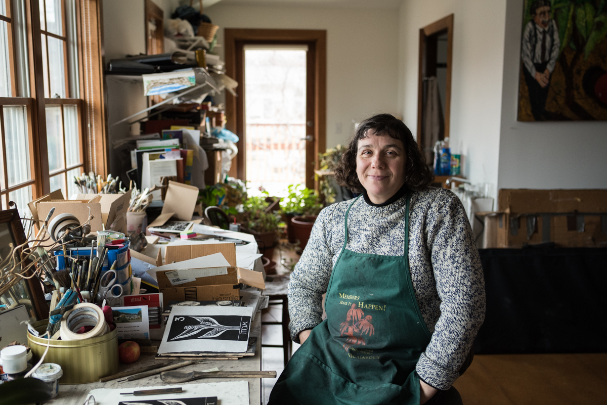
<svg viewBox="0 0 607 405">
<path fill-rule="evenodd" d="M 240 284 L 265 289 L 262 273 L 236 267 L 233 243 L 167 246 L 165 261 L 168 264 L 150 273 L 166 302 L 239 300 Z M 180 279 L 191 281 L 174 284 L 175 272 L 181 272 Z M 185 273 L 188 276 L 183 276 Z"/>
</svg>

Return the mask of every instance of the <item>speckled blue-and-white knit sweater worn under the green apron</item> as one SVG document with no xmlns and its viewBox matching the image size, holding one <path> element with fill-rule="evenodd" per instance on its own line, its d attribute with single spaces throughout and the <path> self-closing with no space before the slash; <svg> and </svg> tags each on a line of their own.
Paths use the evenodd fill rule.
<svg viewBox="0 0 607 405">
<path fill-rule="evenodd" d="M 382 206 L 371 204 L 366 195 L 359 198 L 348 214 L 346 249 L 402 255 L 405 202 L 406 197 L 399 198 L 399 194 Z M 331 271 L 344 246 L 344 218 L 350 204 L 339 202 L 320 212 L 291 275 L 289 328 L 296 342 L 299 332 L 322 321 L 322 294 L 327 292 Z M 429 187 L 413 192 L 409 222 L 413 289 L 432 333 L 416 370 L 426 383 L 446 390 L 459 377 L 459 367 L 484 320 L 483 269 L 464 207 L 449 190 Z"/>
</svg>

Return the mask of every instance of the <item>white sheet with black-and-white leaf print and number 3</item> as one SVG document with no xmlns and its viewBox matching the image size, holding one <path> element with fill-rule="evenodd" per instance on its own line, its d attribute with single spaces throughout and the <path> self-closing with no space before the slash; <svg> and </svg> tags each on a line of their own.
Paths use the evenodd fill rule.
<svg viewBox="0 0 607 405">
<path fill-rule="evenodd" d="M 175 306 L 158 353 L 244 353 L 249 344 L 251 320 L 251 307 Z"/>
</svg>

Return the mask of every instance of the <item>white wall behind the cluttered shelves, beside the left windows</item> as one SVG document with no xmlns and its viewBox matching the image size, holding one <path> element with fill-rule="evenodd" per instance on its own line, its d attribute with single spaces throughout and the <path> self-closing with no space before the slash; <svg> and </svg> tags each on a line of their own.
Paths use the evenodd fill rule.
<svg viewBox="0 0 607 405">
<path fill-rule="evenodd" d="M 178 1 L 154 0 L 154 3 L 163 9 L 166 21 L 170 18 L 174 8 L 177 7 Z M 146 53 L 144 20 L 144 0 L 103 1 L 104 61 L 106 69 L 109 68 L 110 59 Z M 106 85 L 108 126 L 148 106 L 146 97 L 143 96 L 143 84 L 124 84 L 106 78 Z M 111 142 L 127 135 L 129 135 L 129 125 L 126 122 L 109 127 L 110 171 L 114 174 L 118 174 L 119 170 Z"/>
</svg>

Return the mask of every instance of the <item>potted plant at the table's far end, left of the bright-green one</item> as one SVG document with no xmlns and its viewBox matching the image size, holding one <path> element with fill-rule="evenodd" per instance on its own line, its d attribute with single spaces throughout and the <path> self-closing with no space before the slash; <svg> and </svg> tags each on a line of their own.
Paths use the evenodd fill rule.
<svg viewBox="0 0 607 405">
<path fill-rule="evenodd" d="M 270 203 L 266 201 L 267 192 L 263 196 L 250 196 L 243 204 L 243 231 L 255 236 L 260 252 L 272 259 L 274 247 L 278 240 L 278 225 L 280 215 L 268 210 Z"/>
</svg>

